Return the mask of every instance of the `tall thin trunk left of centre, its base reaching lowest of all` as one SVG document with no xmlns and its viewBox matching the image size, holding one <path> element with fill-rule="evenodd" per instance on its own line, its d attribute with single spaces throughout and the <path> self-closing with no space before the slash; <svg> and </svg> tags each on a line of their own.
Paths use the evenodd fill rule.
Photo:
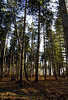
<svg viewBox="0 0 68 100">
<path fill-rule="evenodd" d="M 25 4 L 25 12 L 24 12 L 24 28 L 23 28 L 23 43 L 22 43 L 22 52 L 21 52 L 21 69 L 20 69 L 20 86 L 22 87 L 22 71 L 24 71 L 24 63 L 25 63 L 25 28 L 26 28 L 26 10 L 27 10 L 27 0 Z"/>
</svg>

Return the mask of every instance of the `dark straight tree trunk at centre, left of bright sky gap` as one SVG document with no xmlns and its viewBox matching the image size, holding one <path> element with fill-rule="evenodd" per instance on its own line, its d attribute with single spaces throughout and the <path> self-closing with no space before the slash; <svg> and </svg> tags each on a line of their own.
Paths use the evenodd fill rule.
<svg viewBox="0 0 68 100">
<path fill-rule="evenodd" d="M 35 73 L 36 82 L 38 82 L 39 48 L 40 48 L 40 2 L 39 2 L 39 15 L 38 15 L 38 46 L 37 46 L 36 73 Z"/>
</svg>

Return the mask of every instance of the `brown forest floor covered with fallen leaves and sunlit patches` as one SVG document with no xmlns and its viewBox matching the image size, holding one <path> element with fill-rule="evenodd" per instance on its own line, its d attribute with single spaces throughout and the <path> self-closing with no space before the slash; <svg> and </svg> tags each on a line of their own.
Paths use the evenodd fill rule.
<svg viewBox="0 0 68 100">
<path fill-rule="evenodd" d="M 0 100 L 68 100 L 68 80 L 64 78 L 39 77 L 30 82 L 23 80 L 23 88 L 18 81 L 4 78 L 0 82 Z"/>
</svg>

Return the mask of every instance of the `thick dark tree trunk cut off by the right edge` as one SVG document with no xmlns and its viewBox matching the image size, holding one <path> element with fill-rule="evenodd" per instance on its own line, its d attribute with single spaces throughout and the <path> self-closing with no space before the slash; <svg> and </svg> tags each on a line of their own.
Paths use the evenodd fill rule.
<svg viewBox="0 0 68 100">
<path fill-rule="evenodd" d="M 59 7 L 62 14 L 63 29 L 66 39 L 66 69 L 67 69 L 67 79 L 68 79 L 68 14 L 67 14 L 65 0 L 59 0 Z"/>
</svg>

